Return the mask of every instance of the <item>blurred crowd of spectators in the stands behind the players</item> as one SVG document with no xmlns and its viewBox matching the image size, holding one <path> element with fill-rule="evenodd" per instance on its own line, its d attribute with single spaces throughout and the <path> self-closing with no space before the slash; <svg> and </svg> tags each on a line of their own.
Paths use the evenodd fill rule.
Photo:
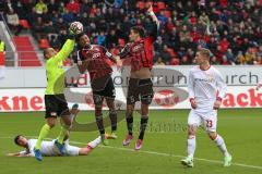
<svg viewBox="0 0 262 174">
<path fill-rule="evenodd" d="M 153 2 L 160 21 L 154 44 L 157 65 L 192 64 L 195 51 L 211 49 L 213 64 L 262 64 L 262 0 L 159 0 Z M 152 27 L 145 3 L 138 0 L 4 0 L 8 24 L 19 35 L 27 20 L 33 36 L 60 48 L 73 21 L 84 25 L 93 44 L 117 53 L 129 28 Z"/>
</svg>

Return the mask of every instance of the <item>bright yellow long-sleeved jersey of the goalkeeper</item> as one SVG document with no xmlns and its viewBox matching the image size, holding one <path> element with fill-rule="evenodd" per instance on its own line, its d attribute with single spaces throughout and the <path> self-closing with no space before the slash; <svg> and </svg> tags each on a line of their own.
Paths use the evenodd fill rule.
<svg viewBox="0 0 262 174">
<path fill-rule="evenodd" d="M 74 49 L 74 40 L 68 39 L 62 49 L 46 62 L 47 87 L 45 95 L 63 94 L 64 89 L 64 70 L 63 60 Z"/>
</svg>

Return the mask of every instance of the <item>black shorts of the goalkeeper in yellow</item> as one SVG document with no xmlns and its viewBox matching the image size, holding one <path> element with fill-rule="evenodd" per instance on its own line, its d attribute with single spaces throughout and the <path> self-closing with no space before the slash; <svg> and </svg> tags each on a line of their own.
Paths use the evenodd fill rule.
<svg viewBox="0 0 262 174">
<path fill-rule="evenodd" d="M 46 119 L 70 115 L 68 102 L 63 94 L 45 95 Z"/>
</svg>

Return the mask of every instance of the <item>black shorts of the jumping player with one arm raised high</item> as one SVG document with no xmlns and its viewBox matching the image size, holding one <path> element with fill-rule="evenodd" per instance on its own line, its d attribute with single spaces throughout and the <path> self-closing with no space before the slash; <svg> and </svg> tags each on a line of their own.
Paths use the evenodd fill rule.
<svg viewBox="0 0 262 174">
<path fill-rule="evenodd" d="M 143 104 L 151 104 L 154 97 L 153 83 L 151 78 L 130 78 L 128 88 L 128 104 L 141 101 Z"/>
</svg>

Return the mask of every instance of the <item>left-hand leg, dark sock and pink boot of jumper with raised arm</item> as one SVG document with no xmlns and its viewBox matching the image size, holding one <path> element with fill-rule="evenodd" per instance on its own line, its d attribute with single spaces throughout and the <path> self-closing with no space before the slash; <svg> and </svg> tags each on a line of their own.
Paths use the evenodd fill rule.
<svg viewBox="0 0 262 174">
<path fill-rule="evenodd" d="M 133 104 L 127 105 L 126 121 L 127 121 L 127 127 L 128 127 L 128 135 L 122 141 L 123 146 L 128 146 L 133 139 L 133 108 L 134 108 Z"/>
</svg>

